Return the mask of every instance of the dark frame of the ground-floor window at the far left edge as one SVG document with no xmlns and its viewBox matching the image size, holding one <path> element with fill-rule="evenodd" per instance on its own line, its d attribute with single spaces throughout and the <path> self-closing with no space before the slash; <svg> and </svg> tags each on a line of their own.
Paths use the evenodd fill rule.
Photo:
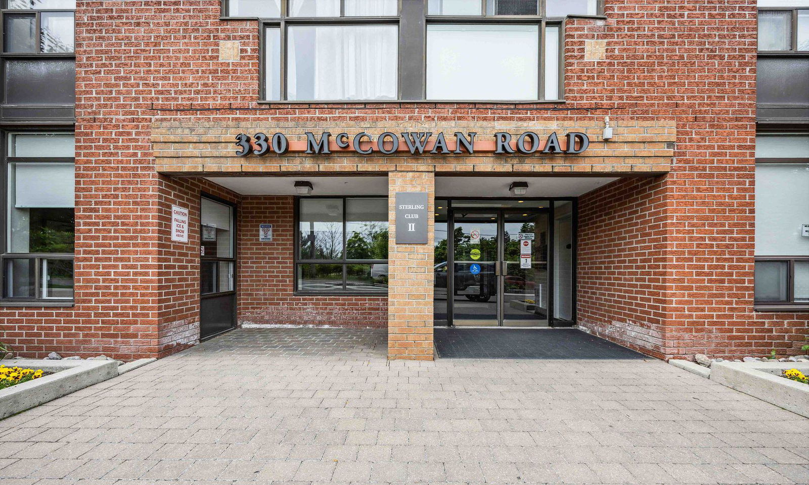
<svg viewBox="0 0 809 485">
<path fill-rule="evenodd" d="M 0 242 L 0 306 L 73 306 L 75 301 L 75 204 L 74 204 L 74 252 L 73 253 L 11 253 L 9 252 L 9 204 L 8 204 L 8 165 L 14 162 L 31 162 L 31 163 L 73 163 L 75 167 L 75 157 L 10 157 L 8 155 L 9 145 L 8 139 L 10 133 L 73 133 L 73 129 L 64 129 L 54 127 L 53 129 L 38 127 L 38 128 L 24 128 L 24 129 L 2 129 L 0 130 L 0 150 L 2 150 L 2 188 L 0 188 L 0 196 L 2 196 L 2 217 L 0 217 L 0 225 L 2 225 L 2 242 Z M 75 135 L 74 135 L 75 136 Z M 6 294 L 6 261 L 9 259 L 33 259 L 36 264 L 36 272 L 34 276 L 34 288 L 36 293 L 34 297 L 5 297 Z M 74 262 L 74 297 L 72 298 L 58 298 L 58 297 L 44 297 L 42 287 L 42 263 L 44 259 L 70 259 Z"/>
</svg>

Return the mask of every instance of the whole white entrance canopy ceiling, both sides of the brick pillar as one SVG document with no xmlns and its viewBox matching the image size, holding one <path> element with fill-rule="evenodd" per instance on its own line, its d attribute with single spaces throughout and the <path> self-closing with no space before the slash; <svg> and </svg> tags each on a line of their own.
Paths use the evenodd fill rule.
<svg viewBox="0 0 809 485">
<path fill-rule="evenodd" d="M 388 177 L 293 175 L 285 177 L 207 177 L 210 181 L 246 196 L 294 196 L 296 180 L 312 184 L 313 196 L 387 196 Z M 436 177 L 438 197 L 509 197 L 511 182 L 528 183 L 525 197 L 575 197 L 603 187 L 616 177 L 508 176 Z"/>
</svg>

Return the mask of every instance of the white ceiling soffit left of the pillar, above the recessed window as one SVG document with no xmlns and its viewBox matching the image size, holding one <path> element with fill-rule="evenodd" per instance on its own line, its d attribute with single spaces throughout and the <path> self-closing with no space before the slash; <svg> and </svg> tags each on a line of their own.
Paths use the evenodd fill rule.
<svg viewBox="0 0 809 485">
<path fill-rule="evenodd" d="M 388 177 L 206 177 L 244 196 L 294 196 L 296 180 L 311 182 L 313 196 L 388 196 Z"/>
</svg>

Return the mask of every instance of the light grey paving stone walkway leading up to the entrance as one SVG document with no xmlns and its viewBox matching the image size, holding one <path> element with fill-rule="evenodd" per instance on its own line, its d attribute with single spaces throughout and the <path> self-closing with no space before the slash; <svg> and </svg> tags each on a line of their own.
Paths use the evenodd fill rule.
<svg viewBox="0 0 809 485">
<path fill-rule="evenodd" d="M 791 484 L 807 464 L 809 420 L 662 361 L 388 362 L 378 331 L 234 331 L 0 421 L 2 485 Z"/>
</svg>

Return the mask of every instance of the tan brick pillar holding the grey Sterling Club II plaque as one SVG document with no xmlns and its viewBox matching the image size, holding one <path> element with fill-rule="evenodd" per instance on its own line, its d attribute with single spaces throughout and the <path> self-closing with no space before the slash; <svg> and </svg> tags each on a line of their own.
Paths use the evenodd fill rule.
<svg viewBox="0 0 809 485">
<path fill-rule="evenodd" d="M 427 244 L 396 244 L 396 192 L 427 192 Z M 435 177 L 388 174 L 388 359 L 433 360 Z"/>
</svg>

